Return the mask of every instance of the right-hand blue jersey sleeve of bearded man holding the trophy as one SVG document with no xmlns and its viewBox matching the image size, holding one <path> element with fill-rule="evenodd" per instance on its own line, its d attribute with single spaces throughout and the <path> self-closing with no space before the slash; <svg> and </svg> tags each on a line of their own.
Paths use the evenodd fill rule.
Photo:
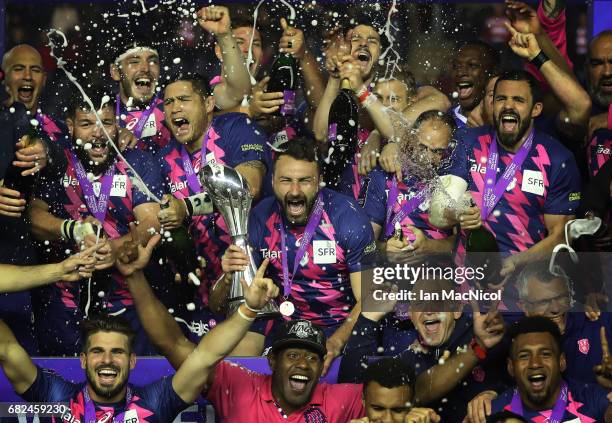
<svg viewBox="0 0 612 423">
<path fill-rule="evenodd" d="M 349 200 L 348 212 L 339 220 L 340 242 L 346 254 L 349 273 L 359 272 L 373 260 L 376 251 L 370 220 L 354 201 Z"/>
</svg>

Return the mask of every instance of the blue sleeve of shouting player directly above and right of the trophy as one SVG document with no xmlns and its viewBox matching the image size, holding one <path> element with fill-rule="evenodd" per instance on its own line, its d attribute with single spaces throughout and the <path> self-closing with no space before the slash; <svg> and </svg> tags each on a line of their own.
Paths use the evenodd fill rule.
<svg viewBox="0 0 612 423">
<path fill-rule="evenodd" d="M 234 154 L 226 155 L 227 164 L 236 167 L 242 163 L 259 161 L 269 169 L 269 149 L 264 131 L 251 122 L 246 115 L 239 114 L 231 126 L 225 145 L 234 149 Z"/>
</svg>

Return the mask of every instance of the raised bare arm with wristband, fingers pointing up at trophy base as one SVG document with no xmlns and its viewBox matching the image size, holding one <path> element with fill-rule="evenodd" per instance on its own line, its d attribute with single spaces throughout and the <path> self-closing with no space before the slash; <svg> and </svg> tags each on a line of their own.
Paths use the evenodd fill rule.
<svg viewBox="0 0 612 423">
<path fill-rule="evenodd" d="M 254 310 L 261 310 L 278 295 L 278 287 L 272 279 L 263 277 L 267 266 L 266 259 L 257 270 L 251 285 L 242 280 L 246 305 L 242 304 L 236 313 L 202 338 L 172 378 L 172 387 L 185 402 L 194 401 L 204 385 L 212 383 L 215 366 L 246 335 L 257 316 Z"/>
</svg>

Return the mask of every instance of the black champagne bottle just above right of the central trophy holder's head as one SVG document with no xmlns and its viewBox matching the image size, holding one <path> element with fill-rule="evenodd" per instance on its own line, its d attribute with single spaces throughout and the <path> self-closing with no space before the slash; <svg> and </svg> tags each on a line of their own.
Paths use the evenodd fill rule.
<svg viewBox="0 0 612 423">
<path fill-rule="evenodd" d="M 330 188 L 337 188 L 340 175 L 352 162 L 357 150 L 359 105 L 348 79 L 342 80 L 340 92 L 329 109 L 328 158 L 323 163 L 323 178 Z"/>
</svg>

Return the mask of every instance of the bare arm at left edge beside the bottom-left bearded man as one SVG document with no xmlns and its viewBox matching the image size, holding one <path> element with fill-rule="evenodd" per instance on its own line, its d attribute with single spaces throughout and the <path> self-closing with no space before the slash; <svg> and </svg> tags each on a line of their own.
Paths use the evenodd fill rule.
<svg viewBox="0 0 612 423">
<path fill-rule="evenodd" d="M 0 320 L 0 365 L 19 395 L 27 391 L 36 380 L 38 373 L 36 366 L 2 320 Z"/>
</svg>

